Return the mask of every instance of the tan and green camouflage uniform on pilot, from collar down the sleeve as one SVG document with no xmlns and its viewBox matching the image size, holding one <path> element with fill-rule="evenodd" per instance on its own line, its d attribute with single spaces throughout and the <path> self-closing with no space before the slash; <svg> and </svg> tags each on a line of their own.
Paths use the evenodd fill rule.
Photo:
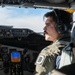
<svg viewBox="0 0 75 75">
<path fill-rule="evenodd" d="M 47 75 L 56 68 L 56 58 L 61 50 L 69 43 L 70 36 L 67 34 L 61 36 L 53 44 L 44 48 L 36 60 L 34 75 Z"/>
</svg>

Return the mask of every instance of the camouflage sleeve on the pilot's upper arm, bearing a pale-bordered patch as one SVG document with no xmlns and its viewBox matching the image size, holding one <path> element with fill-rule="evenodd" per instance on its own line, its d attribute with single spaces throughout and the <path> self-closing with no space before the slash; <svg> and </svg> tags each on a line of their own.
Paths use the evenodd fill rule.
<svg viewBox="0 0 75 75">
<path fill-rule="evenodd" d="M 35 64 L 34 75 L 46 75 L 55 68 L 55 56 L 50 56 L 47 50 L 42 50 Z"/>
</svg>

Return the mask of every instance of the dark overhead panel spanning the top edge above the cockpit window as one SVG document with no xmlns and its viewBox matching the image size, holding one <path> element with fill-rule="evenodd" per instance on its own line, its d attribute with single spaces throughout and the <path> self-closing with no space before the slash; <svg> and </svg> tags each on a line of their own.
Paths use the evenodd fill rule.
<svg viewBox="0 0 75 75">
<path fill-rule="evenodd" d="M 32 8 L 71 8 L 75 9 L 75 0 L 0 0 L 1 6 L 20 6 Z"/>
</svg>

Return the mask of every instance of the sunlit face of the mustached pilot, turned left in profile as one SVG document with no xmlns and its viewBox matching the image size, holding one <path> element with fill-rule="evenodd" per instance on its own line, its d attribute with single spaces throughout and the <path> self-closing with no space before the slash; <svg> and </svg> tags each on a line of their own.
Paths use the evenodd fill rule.
<svg viewBox="0 0 75 75">
<path fill-rule="evenodd" d="M 55 41 L 58 38 L 59 34 L 57 33 L 55 26 L 56 22 L 52 17 L 45 18 L 45 26 L 43 28 L 45 40 Z"/>
</svg>

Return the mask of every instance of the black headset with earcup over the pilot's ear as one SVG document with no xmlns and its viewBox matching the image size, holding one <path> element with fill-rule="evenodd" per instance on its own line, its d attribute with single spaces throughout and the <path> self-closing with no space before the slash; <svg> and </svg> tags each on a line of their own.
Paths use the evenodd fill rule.
<svg viewBox="0 0 75 75">
<path fill-rule="evenodd" d="M 56 30 L 57 30 L 58 33 L 63 34 L 68 30 L 68 28 L 61 20 L 60 10 L 54 10 L 54 13 L 55 13 L 55 16 L 57 18 Z"/>
</svg>

